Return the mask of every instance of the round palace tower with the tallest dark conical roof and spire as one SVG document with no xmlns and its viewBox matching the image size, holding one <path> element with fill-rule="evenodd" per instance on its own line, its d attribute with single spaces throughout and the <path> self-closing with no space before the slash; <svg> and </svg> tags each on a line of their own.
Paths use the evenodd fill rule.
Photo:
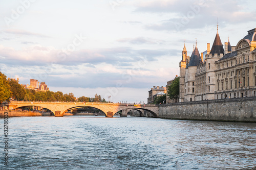
<svg viewBox="0 0 256 170">
<path fill-rule="evenodd" d="M 219 25 L 217 25 L 217 34 L 215 36 L 214 43 L 212 44 L 211 51 L 209 55 L 206 55 L 206 78 L 205 78 L 205 99 L 214 100 L 215 99 L 215 86 L 216 77 L 215 62 L 222 58 L 224 55 L 224 48 L 219 35 Z"/>
</svg>

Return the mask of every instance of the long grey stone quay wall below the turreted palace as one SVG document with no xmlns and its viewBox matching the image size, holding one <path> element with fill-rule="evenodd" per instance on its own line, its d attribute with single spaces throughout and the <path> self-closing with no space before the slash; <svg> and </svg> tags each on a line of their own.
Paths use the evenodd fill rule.
<svg viewBox="0 0 256 170">
<path fill-rule="evenodd" d="M 159 117 L 256 123 L 256 97 L 160 105 Z"/>
</svg>

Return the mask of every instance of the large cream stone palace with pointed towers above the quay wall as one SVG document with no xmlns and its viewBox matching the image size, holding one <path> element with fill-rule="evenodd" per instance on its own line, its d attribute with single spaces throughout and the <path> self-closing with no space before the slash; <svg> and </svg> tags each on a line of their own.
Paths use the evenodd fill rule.
<svg viewBox="0 0 256 170">
<path fill-rule="evenodd" d="M 229 39 L 225 49 L 217 34 L 210 50 L 197 45 L 191 57 L 184 45 L 180 62 L 179 102 L 240 98 L 256 95 L 256 29 L 248 31 L 236 46 Z M 205 58 L 204 58 L 205 56 Z"/>
</svg>

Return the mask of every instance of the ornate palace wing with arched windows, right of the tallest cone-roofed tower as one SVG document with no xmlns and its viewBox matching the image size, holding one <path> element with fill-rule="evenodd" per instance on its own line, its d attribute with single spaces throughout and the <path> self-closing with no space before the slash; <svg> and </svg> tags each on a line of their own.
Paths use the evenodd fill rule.
<svg viewBox="0 0 256 170">
<path fill-rule="evenodd" d="M 228 45 L 229 48 L 229 45 Z M 215 64 L 215 99 L 243 98 L 256 95 L 256 29 L 248 31 Z M 225 51 L 226 46 L 225 46 Z"/>
</svg>

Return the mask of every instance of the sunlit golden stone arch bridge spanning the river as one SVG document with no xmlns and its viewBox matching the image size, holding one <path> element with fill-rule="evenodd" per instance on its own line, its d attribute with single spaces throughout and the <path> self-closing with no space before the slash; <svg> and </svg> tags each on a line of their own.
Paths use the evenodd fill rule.
<svg viewBox="0 0 256 170">
<path fill-rule="evenodd" d="M 14 102 L 9 103 L 9 109 L 25 108 L 29 106 L 38 106 L 51 110 L 55 116 L 63 116 L 65 112 L 71 109 L 82 107 L 93 107 L 105 113 L 106 117 L 113 117 L 118 111 L 122 111 L 121 116 L 127 116 L 131 110 L 147 111 L 153 117 L 159 116 L 159 106 L 140 105 L 140 104 L 117 104 L 117 103 L 91 103 L 91 102 Z"/>
</svg>

